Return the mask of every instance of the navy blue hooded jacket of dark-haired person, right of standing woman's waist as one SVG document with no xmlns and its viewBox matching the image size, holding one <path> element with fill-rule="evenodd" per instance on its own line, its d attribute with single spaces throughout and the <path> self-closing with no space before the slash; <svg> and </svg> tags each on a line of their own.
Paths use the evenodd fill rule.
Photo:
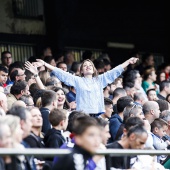
<svg viewBox="0 0 170 170">
<path fill-rule="evenodd" d="M 123 120 L 118 114 L 114 114 L 110 118 L 109 129 L 110 129 L 111 138 L 109 139 L 109 143 L 115 141 L 116 134 L 122 123 L 123 123 Z"/>
</svg>

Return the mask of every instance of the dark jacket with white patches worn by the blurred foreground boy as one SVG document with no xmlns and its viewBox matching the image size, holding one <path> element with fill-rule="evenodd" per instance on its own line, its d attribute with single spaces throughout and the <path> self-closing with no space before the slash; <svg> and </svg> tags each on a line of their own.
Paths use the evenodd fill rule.
<svg viewBox="0 0 170 170">
<path fill-rule="evenodd" d="M 91 162 L 91 160 L 92 155 L 75 144 L 72 153 L 60 157 L 57 163 L 54 164 L 52 170 L 77 170 L 77 168 L 81 170 L 92 170 L 96 167 L 94 162 L 93 165 L 91 164 L 91 167 L 87 167 L 87 164 Z"/>
</svg>

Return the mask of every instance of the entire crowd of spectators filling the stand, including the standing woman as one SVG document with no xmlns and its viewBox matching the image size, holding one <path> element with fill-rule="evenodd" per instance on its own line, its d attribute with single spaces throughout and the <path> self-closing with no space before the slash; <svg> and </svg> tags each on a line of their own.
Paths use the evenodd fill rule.
<svg viewBox="0 0 170 170">
<path fill-rule="evenodd" d="M 0 170 L 105 170 L 102 149 L 170 149 L 170 65 L 154 55 L 112 68 L 107 54 L 74 60 L 50 48 L 36 59 L 1 53 L 0 148 L 68 148 L 66 156 L 1 156 Z M 159 169 L 167 155 L 112 156 L 112 169 Z M 170 166 L 169 166 L 170 168 Z M 169 169 L 168 168 L 168 169 Z"/>
</svg>

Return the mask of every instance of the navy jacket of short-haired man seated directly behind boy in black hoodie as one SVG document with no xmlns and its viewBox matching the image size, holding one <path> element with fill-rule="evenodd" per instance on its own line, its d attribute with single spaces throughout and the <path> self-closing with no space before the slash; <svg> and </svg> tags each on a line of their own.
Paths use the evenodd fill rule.
<svg viewBox="0 0 170 170">
<path fill-rule="evenodd" d="M 41 112 L 41 115 L 42 115 L 42 118 L 43 118 L 43 126 L 42 126 L 42 132 L 44 134 L 47 133 L 47 131 L 49 129 L 51 129 L 51 124 L 49 122 L 49 114 L 50 114 L 50 110 L 45 108 L 45 107 L 41 107 L 40 108 L 40 112 Z"/>
</svg>

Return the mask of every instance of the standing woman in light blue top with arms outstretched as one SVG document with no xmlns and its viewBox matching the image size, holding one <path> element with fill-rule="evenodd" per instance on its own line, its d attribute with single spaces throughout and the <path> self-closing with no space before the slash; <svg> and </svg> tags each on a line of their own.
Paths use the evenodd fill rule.
<svg viewBox="0 0 170 170">
<path fill-rule="evenodd" d="M 87 59 L 83 61 L 80 67 L 81 77 L 69 74 L 40 59 L 37 59 L 37 62 L 34 62 L 33 65 L 36 67 L 45 65 L 52 70 L 51 75 L 55 75 L 68 86 L 74 86 L 76 89 L 76 109 L 92 114 L 91 116 L 97 116 L 104 113 L 103 88 L 120 76 L 124 68 L 129 64 L 136 63 L 137 60 L 137 58 L 132 57 L 114 69 L 98 75 L 93 62 Z M 29 70 L 30 65 L 31 63 L 26 62 L 26 69 Z"/>
</svg>

